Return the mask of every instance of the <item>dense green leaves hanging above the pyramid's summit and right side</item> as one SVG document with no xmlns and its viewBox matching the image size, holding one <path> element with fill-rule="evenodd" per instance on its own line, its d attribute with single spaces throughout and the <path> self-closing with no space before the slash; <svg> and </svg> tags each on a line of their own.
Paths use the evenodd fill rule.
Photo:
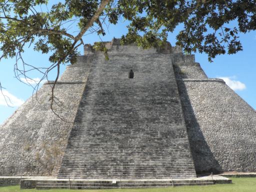
<svg viewBox="0 0 256 192">
<path fill-rule="evenodd" d="M 211 61 L 242 50 L 237 33 L 255 30 L 255 11 L 255 0 L 120 0 L 115 9 L 109 8 L 109 21 L 116 23 L 120 16 L 130 20 L 122 41 L 144 48 L 165 41 L 167 32 L 182 23 L 176 44 L 188 53 L 205 52 Z M 238 26 L 228 27 L 231 21 Z"/>
</svg>

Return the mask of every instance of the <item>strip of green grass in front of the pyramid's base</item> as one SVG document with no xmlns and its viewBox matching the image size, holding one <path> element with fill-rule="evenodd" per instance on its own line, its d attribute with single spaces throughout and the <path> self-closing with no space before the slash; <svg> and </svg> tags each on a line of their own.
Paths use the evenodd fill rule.
<svg viewBox="0 0 256 192">
<path fill-rule="evenodd" d="M 232 177 L 232 184 L 214 184 L 208 186 L 180 186 L 167 188 L 117 188 L 117 189 L 95 189 L 95 190 L 69 190 L 69 189 L 50 189 L 50 190 L 36 190 L 36 189 L 19 189 L 19 186 L 2 186 L 0 192 L 255 192 L 256 191 L 256 177 Z"/>
</svg>

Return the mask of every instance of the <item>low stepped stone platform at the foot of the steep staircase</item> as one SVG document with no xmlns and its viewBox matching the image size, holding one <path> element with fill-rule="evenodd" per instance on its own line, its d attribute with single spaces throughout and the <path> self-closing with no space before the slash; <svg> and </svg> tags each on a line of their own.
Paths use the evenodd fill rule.
<svg viewBox="0 0 256 192">
<path fill-rule="evenodd" d="M 189 185 L 208 185 L 215 183 L 231 183 L 231 179 L 220 175 L 208 175 L 196 178 L 166 178 L 166 179 L 61 179 L 53 177 L 34 177 L 20 180 L 20 188 L 70 188 L 70 189 L 99 189 L 99 188 L 147 188 L 175 187 Z"/>
</svg>

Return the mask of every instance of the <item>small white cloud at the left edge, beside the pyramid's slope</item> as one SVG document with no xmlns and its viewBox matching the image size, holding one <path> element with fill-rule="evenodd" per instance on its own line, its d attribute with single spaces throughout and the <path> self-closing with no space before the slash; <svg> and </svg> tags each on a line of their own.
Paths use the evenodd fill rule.
<svg viewBox="0 0 256 192">
<path fill-rule="evenodd" d="M 4 97 L 6 100 L 4 99 Z M 24 103 L 24 100 L 17 98 L 13 94 L 9 93 L 7 90 L 2 90 L 2 93 L 0 92 L 0 105 L 20 106 L 23 103 Z"/>
</svg>

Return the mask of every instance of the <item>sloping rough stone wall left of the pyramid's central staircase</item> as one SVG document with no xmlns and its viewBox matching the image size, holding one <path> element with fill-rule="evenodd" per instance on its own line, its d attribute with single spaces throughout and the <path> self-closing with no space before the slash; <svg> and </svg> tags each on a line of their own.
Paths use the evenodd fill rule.
<svg viewBox="0 0 256 192">
<path fill-rule="evenodd" d="M 77 65 L 68 66 L 56 84 L 53 109 L 64 120 L 51 111 L 52 84 L 45 83 L 0 126 L 0 175 L 57 173 L 90 61 L 78 58 Z"/>
</svg>

